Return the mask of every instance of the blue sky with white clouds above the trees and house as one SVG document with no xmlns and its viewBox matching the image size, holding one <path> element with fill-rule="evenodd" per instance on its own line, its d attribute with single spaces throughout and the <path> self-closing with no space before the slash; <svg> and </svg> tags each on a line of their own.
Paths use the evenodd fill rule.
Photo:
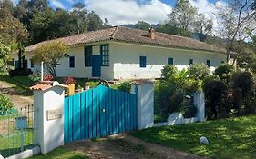
<svg viewBox="0 0 256 159">
<path fill-rule="evenodd" d="M 13 0 L 16 4 L 18 0 Z M 167 15 L 176 4 L 176 0 L 48 0 L 53 8 L 70 10 L 74 2 L 83 2 L 86 9 L 95 11 L 102 19 L 107 18 L 110 25 L 135 24 L 146 21 L 159 24 L 167 20 Z M 199 13 L 212 15 L 215 3 L 224 0 L 189 0 L 199 8 Z"/>
</svg>

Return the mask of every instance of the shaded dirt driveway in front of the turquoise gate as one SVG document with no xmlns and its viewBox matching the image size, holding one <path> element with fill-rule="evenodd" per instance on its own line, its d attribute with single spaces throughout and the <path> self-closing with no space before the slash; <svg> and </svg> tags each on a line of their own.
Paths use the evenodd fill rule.
<svg viewBox="0 0 256 159">
<path fill-rule="evenodd" d="M 85 152 L 91 159 L 202 159 L 160 144 L 146 143 L 128 134 L 115 134 L 92 141 L 81 140 L 66 147 Z"/>
</svg>

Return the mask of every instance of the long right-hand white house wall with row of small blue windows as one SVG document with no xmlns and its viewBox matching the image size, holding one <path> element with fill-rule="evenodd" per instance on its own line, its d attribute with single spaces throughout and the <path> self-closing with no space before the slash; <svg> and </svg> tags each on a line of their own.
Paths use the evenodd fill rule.
<svg viewBox="0 0 256 159">
<path fill-rule="evenodd" d="M 204 63 L 210 60 L 210 70 L 225 61 L 226 55 L 210 52 L 200 52 L 167 47 L 156 47 L 149 45 L 132 45 L 125 43 L 111 43 L 112 54 L 111 63 L 114 63 L 115 79 L 132 78 L 156 78 L 164 65 L 167 65 L 168 58 L 173 58 L 174 65 L 179 70 L 189 66 L 189 59 L 193 59 L 194 64 Z M 147 67 L 139 67 L 139 56 L 146 56 Z"/>
</svg>

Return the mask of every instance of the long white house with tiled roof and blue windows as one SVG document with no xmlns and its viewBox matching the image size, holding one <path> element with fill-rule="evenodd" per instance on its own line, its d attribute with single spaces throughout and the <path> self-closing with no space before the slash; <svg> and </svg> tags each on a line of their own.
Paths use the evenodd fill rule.
<svg viewBox="0 0 256 159">
<path fill-rule="evenodd" d="M 26 47 L 28 68 L 40 71 L 30 59 L 38 46 L 51 41 Z M 68 58 L 61 59 L 57 65 L 56 76 L 59 77 L 158 78 L 164 65 L 182 69 L 193 63 L 204 63 L 214 70 L 226 59 L 225 50 L 217 46 L 187 37 L 155 33 L 153 29 L 142 31 L 115 26 L 55 41 L 70 46 Z"/>
</svg>

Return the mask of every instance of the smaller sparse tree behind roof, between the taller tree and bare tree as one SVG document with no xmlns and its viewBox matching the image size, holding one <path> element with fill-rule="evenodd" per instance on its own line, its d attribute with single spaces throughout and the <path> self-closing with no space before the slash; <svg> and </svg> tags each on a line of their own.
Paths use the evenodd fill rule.
<svg viewBox="0 0 256 159">
<path fill-rule="evenodd" d="M 193 27 L 195 32 L 199 35 L 200 41 L 204 42 L 207 35 L 210 34 L 212 30 L 213 22 L 210 18 L 206 18 L 205 15 L 199 14 L 196 16 Z"/>
</svg>

